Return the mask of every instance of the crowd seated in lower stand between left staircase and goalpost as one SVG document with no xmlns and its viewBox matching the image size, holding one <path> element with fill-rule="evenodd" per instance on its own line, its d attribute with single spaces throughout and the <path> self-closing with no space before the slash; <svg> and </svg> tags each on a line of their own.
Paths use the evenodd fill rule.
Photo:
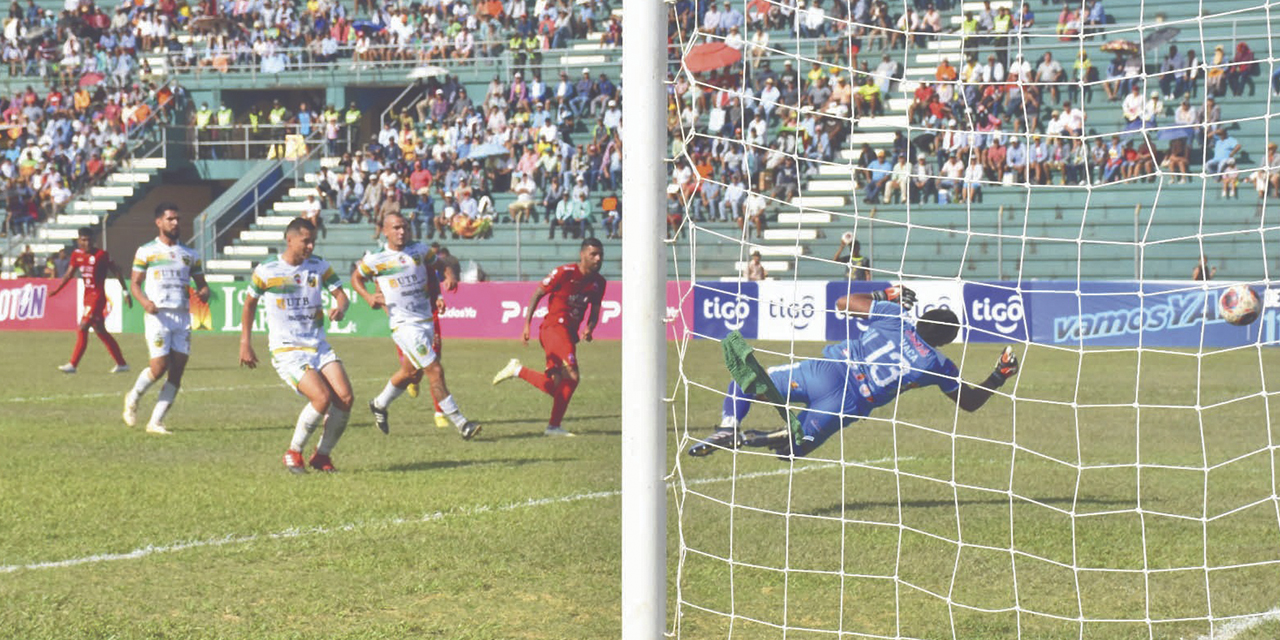
<svg viewBox="0 0 1280 640">
<path fill-rule="evenodd" d="M 495 77 L 470 96 L 452 76 L 419 86 L 367 145 L 321 170 L 334 224 L 406 212 L 420 237 L 485 238 L 499 223 L 544 224 L 548 236 L 618 237 L 622 93 L 605 72 L 544 82 Z M 376 234 L 376 232 L 375 232 Z"/>
</svg>

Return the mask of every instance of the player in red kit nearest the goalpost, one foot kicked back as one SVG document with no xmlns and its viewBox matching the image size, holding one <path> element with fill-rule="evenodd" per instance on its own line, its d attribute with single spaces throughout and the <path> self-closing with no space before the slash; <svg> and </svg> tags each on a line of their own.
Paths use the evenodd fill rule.
<svg viewBox="0 0 1280 640">
<path fill-rule="evenodd" d="M 547 352 L 547 371 L 532 371 L 521 366 L 520 360 L 512 358 L 498 375 L 493 376 L 493 384 L 520 376 L 553 398 L 547 435 L 573 435 L 561 426 L 561 420 L 564 419 L 564 410 L 568 408 L 568 401 L 573 397 L 579 383 L 576 352 L 579 326 L 585 316 L 586 332 L 582 333 L 582 339 L 591 342 L 591 333 L 600 321 L 600 300 L 604 298 L 604 278 L 600 276 L 603 261 L 604 246 L 595 238 L 586 238 L 579 251 L 577 262 L 557 266 L 534 291 L 529 311 L 525 314 L 524 340 L 529 344 L 529 326 L 538 303 L 544 296 L 550 296 L 538 337 L 543 343 L 543 351 Z"/>
</svg>

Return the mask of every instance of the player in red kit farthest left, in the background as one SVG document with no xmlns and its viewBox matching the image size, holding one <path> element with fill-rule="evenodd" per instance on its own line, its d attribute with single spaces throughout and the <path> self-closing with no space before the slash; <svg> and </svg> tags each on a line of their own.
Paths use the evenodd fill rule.
<svg viewBox="0 0 1280 640">
<path fill-rule="evenodd" d="M 67 283 L 72 280 L 72 276 L 77 271 L 79 271 L 81 280 L 84 282 L 84 317 L 81 317 L 81 324 L 76 333 L 76 348 L 72 351 L 72 361 L 58 367 L 58 370 L 64 374 L 76 372 L 76 367 L 79 366 L 79 358 L 84 355 L 84 348 L 88 344 L 88 330 L 93 329 L 97 338 L 106 346 L 106 351 L 111 353 L 111 358 L 115 360 L 111 372 L 120 374 L 128 371 L 129 365 L 124 362 L 124 356 L 120 355 L 120 346 L 116 344 L 111 334 L 106 333 L 106 289 L 104 288 L 106 275 L 111 274 L 111 276 L 120 282 L 124 302 L 131 307 L 133 306 L 133 300 L 129 298 L 129 288 L 124 284 L 124 274 L 115 266 L 115 262 L 111 262 L 111 256 L 93 244 L 93 229 L 90 227 L 81 227 L 79 237 L 76 238 L 76 250 L 72 251 L 67 273 L 63 274 L 63 282 L 58 283 L 58 288 L 50 296 L 56 296 L 58 292 L 63 291 L 63 287 L 67 287 Z"/>
</svg>

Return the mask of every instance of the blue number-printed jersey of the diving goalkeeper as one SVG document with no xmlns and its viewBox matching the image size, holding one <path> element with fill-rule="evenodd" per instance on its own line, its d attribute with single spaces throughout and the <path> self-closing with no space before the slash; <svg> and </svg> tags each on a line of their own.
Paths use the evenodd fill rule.
<svg viewBox="0 0 1280 640">
<path fill-rule="evenodd" d="M 872 302 L 865 324 L 865 332 L 828 344 L 823 356 L 850 369 L 849 392 L 861 397 L 868 411 L 908 389 L 936 385 L 952 393 L 960 388 L 960 370 L 916 335 L 915 324 L 902 317 L 902 307 Z"/>
</svg>

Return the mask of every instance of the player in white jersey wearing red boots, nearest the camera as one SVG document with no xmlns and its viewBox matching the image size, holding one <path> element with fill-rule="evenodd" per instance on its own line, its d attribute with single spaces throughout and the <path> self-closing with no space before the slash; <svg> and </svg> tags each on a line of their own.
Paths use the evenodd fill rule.
<svg viewBox="0 0 1280 640">
<path fill-rule="evenodd" d="M 307 398 L 293 440 L 284 452 L 284 467 L 305 474 L 302 448 L 324 421 L 320 444 L 311 456 L 311 468 L 334 471 L 329 453 L 347 429 L 351 417 L 351 380 L 342 361 L 329 348 L 324 330 L 324 292 L 335 302 L 329 320 L 342 320 L 347 312 L 347 294 L 329 262 L 311 255 L 316 246 L 316 228 L 297 218 L 284 229 L 284 252 L 253 269 L 253 278 L 241 314 L 241 366 L 257 366 L 251 332 L 259 301 L 266 316 L 268 344 L 271 365 L 285 384 Z"/>
</svg>

